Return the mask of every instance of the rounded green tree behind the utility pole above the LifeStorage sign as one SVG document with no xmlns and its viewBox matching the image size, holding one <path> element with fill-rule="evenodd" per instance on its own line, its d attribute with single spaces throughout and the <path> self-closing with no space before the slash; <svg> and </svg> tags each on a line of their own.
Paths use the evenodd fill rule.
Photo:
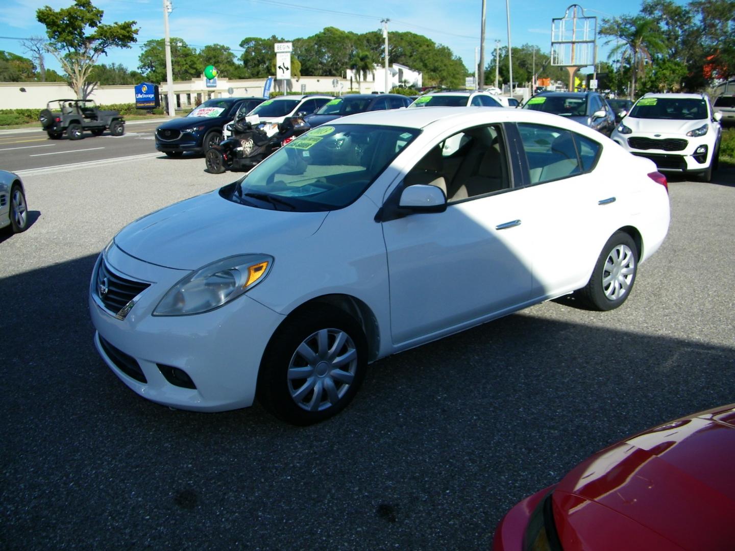
<svg viewBox="0 0 735 551">
<path fill-rule="evenodd" d="M 201 58 L 194 48 L 190 48 L 181 38 L 171 37 L 171 66 L 174 80 L 195 79 L 204 71 Z M 146 80 L 157 84 L 166 81 L 165 40 L 148 40 L 138 57 L 138 69 Z"/>
</svg>

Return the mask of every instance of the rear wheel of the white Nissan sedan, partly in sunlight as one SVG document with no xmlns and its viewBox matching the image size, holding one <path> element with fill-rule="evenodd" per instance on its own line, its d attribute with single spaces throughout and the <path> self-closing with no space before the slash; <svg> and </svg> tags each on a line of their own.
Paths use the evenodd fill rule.
<svg viewBox="0 0 735 551">
<path fill-rule="evenodd" d="M 581 298 L 590 309 L 613 310 L 628 299 L 636 281 L 638 254 L 635 242 L 623 231 L 616 231 L 607 240 L 592 277 L 581 289 Z M 605 281 L 607 278 L 612 278 L 609 285 Z"/>
</svg>

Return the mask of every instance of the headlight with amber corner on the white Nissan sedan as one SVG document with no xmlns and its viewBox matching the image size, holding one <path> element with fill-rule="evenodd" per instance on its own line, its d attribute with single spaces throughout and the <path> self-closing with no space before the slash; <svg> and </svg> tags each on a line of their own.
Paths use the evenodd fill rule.
<svg viewBox="0 0 735 551">
<path fill-rule="evenodd" d="M 201 314 L 229 303 L 263 281 L 273 256 L 243 254 L 212 262 L 168 289 L 154 316 Z"/>
</svg>

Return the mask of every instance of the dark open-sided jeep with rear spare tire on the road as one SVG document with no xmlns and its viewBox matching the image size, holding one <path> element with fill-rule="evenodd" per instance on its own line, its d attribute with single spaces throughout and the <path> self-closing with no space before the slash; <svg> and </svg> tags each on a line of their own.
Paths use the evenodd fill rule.
<svg viewBox="0 0 735 551">
<path fill-rule="evenodd" d="M 81 140 L 85 130 L 101 136 L 110 129 L 113 136 L 125 134 L 125 120 L 117 111 L 101 111 L 91 99 L 54 99 L 38 115 L 41 126 L 51 140 L 66 135 L 69 140 Z"/>
</svg>

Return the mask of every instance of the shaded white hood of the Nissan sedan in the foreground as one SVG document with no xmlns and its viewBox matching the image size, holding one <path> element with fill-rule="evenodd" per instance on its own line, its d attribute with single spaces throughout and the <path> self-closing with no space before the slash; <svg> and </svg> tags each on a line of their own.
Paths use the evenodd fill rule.
<svg viewBox="0 0 735 551">
<path fill-rule="evenodd" d="M 279 244 L 314 234 L 326 215 L 258 209 L 213 191 L 138 218 L 115 236 L 115 245 L 151 264 L 196 270 L 235 254 L 276 256 Z"/>
</svg>

